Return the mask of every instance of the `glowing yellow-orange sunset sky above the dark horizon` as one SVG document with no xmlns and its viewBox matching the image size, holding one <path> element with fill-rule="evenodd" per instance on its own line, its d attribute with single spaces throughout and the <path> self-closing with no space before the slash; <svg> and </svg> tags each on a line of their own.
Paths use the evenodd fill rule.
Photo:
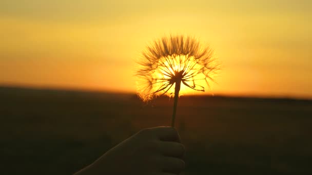
<svg viewBox="0 0 312 175">
<path fill-rule="evenodd" d="M 135 92 L 135 60 L 164 35 L 209 43 L 204 94 L 312 98 L 312 1 L 0 2 L 0 84 Z"/>
</svg>

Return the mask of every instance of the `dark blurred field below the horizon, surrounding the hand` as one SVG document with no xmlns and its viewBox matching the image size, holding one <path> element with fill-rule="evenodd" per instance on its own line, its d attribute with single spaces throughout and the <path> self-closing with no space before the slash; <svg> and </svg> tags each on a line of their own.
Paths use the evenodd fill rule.
<svg viewBox="0 0 312 175">
<path fill-rule="evenodd" d="M 182 96 L 183 174 L 312 174 L 312 101 Z M 172 99 L 0 88 L 0 174 L 72 174 L 145 127 Z"/>
</svg>

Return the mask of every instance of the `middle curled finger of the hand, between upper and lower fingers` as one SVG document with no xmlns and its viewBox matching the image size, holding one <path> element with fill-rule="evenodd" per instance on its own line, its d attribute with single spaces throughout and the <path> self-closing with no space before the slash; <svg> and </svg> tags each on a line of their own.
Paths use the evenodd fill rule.
<svg viewBox="0 0 312 175">
<path fill-rule="evenodd" d="M 185 152 L 185 148 L 178 142 L 165 142 L 161 141 L 159 149 L 164 156 L 170 157 L 182 157 Z"/>
</svg>

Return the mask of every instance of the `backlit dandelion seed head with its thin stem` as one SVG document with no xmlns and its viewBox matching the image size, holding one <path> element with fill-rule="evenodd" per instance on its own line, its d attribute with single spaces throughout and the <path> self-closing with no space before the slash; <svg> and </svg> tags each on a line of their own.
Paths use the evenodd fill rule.
<svg viewBox="0 0 312 175">
<path fill-rule="evenodd" d="M 198 39 L 183 35 L 162 37 L 147 46 L 138 61 L 138 95 L 149 101 L 161 95 L 174 95 L 171 126 L 174 126 L 181 86 L 205 91 L 217 70 L 213 52 Z M 173 87 L 174 85 L 174 87 Z"/>
</svg>

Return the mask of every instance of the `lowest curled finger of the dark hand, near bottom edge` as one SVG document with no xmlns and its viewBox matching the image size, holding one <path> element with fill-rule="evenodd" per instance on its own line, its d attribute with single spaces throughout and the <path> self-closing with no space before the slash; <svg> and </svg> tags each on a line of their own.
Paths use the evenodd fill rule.
<svg viewBox="0 0 312 175">
<path fill-rule="evenodd" d="M 173 157 L 164 157 L 163 172 L 180 173 L 185 167 L 183 160 Z"/>
</svg>

